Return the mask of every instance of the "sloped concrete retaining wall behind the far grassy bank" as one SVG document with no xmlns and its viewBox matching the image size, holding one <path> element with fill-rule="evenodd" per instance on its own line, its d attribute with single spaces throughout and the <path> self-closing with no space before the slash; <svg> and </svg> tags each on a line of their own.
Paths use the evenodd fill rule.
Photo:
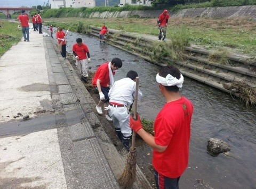
<svg viewBox="0 0 256 189">
<path fill-rule="evenodd" d="M 129 18 L 139 16 L 140 18 L 158 18 L 163 10 L 156 11 L 122 11 L 122 12 L 94 12 L 89 18 Z M 188 8 L 178 12 L 170 12 L 171 17 L 193 17 L 193 18 L 238 18 L 246 17 L 256 20 L 256 6 L 229 6 L 209 8 Z"/>
</svg>

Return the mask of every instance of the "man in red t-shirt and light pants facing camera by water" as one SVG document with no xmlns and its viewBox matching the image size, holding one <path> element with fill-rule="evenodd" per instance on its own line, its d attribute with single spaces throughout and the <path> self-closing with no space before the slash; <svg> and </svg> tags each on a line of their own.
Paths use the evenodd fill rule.
<svg viewBox="0 0 256 189">
<path fill-rule="evenodd" d="M 76 57 L 76 68 L 81 76 L 81 80 L 87 83 L 88 63 L 91 61 L 89 49 L 85 44 L 83 44 L 81 38 L 77 38 L 76 44 L 73 45 L 72 50 Z"/>
</svg>

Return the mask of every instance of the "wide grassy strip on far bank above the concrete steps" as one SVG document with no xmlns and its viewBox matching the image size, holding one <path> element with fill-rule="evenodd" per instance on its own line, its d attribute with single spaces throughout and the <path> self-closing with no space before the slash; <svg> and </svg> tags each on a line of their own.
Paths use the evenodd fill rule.
<svg viewBox="0 0 256 189">
<path fill-rule="evenodd" d="M 156 19 L 138 18 L 51 18 L 44 19 L 46 24 L 55 27 L 70 28 L 78 31 L 79 28 L 101 27 L 105 22 L 109 29 L 121 32 L 136 32 L 158 36 Z M 171 18 L 167 30 L 167 40 L 188 38 L 185 45 L 200 46 L 205 49 L 226 49 L 230 52 L 244 53 L 255 56 L 256 23 L 250 19 L 207 19 L 207 18 Z M 184 31 L 186 35 L 184 36 Z M 81 30 L 79 32 L 83 33 Z M 183 35 L 180 35 L 182 33 Z"/>
</svg>

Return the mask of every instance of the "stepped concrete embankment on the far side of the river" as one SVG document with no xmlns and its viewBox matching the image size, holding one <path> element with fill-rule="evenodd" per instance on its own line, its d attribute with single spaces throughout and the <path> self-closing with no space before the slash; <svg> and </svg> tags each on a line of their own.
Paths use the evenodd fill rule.
<svg viewBox="0 0 256 189">
<path fill-rule="evenodd" d="M 90 34 L 98 37 L 99 31 L 99 28 L 92 28 Z M 184 61 L 163 58 L 162 61 L 156 62 L 152 58 L 154 57 L 152 47 L 154 41 L 158 42 L 157 36 L 138 36 L 134 33 L 121 33 L 117 30 L 110 30 L 109 33 L 111 34 L 107 40 L 109 44 L 159 66 L 172 62 L 180 68 L 183 75 L 236 97 L 243 98 L 239 91 L 231 87 L 234 82 L 256 87 L 256 63 L 249 56 L 231 54 L 227 56 L 228 64 L 221 64 L 209 61 L 208 57 L 212 53 L 210 50 L 185 47 Z"/>
</svg>

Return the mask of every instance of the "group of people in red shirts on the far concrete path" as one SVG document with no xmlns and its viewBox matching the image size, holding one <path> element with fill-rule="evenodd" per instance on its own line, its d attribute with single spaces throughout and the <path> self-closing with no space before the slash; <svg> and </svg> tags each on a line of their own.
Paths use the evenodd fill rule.
<svg viewBox="0 0 256 189">
<path fill-rule="evenodd" d="M 29 24 L 28 24 L 29 18 L 28 18 L 28 14 L 26 14 L 25 10 L 21 11 L 21 14 L 18 16 L 18 20 L 19 20 L 18 27 L 20 28 L 20 25 L 22 27 L 22 34 L 24 37 L 24 41 L 29 41 Z M 38 12 L 38 14 L 31 15 L 31 21 L 33 23 L 34 31 L 39 30 L 39 33 L 42 33 L 42 21 L 43 20 L 41 18 L 40 12 Z"/>
</svg>

